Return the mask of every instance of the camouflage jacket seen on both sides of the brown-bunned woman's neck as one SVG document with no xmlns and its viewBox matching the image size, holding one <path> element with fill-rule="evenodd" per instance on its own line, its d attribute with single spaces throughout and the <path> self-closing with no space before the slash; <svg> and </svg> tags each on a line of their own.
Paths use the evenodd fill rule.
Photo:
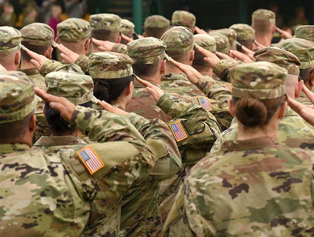
<svg viewBox="0 0 314 237">
<path fill-rule="evenodd" d="M 236 139 L 238 139 L 238 123 L 234 119 L 230 128 L 218 137 L 210 153 L 219 150 L 226 140 Z M 277 140 L 286 147 L 314 150 L 314 126 L 302 119 L 291 108 L 286 108 L 285 117 L 279 122 Z"/>
</svg>

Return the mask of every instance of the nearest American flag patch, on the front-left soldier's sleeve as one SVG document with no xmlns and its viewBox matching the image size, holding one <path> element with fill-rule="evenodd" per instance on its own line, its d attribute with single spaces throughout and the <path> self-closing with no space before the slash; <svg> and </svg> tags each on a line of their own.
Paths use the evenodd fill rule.
<svg viewBox="0 0 314 237">
<path fill-rule="evenodd" d="M 90 146 L 85 147 L 81 151 L 77 152 L 77 154 L 91 174 L 105 167 L 102 160 Z"/>
</svg>

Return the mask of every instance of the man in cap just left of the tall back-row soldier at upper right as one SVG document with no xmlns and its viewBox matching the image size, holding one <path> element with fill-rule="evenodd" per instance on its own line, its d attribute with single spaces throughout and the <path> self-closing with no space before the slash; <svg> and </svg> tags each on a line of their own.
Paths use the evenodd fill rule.
<svg viewBox="0 0 314 237">
<path fill-rule="evenodd" d="M 247 24 L 233 24 L 229 27 L 229 29 L 234 29 L 237 32 L 237 41 L 239 42 L 239 45 L 237 45 L 237 51 L 246 54 L 242 50 L 241 45 L 244 45 L 250 50 L 253 49 L 255 30 L 252 27 Z"/>
</svg>

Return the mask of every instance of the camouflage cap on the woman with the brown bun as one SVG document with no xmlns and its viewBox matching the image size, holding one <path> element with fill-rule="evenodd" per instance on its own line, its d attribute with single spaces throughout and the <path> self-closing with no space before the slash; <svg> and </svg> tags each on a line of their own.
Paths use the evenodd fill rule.
<svg viewBox="0 0 314 237">
<path fill-rule="evenodd" d="M 237 64 L 230 68 L 232 96 L 253 97 L 258 100 L 276 99 L 285 94 L 285 68 L 269 62 Z"/>
</svg>

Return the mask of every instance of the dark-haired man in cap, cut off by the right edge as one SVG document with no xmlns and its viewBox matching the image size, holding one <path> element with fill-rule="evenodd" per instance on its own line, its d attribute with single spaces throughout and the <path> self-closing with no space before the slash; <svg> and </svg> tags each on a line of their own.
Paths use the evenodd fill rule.
<svg viewBox="0 0 314 237">
<path fill-rule="evenodd" d="M 314 86 L 314 43 L 306 39 L 292 38 L 283 40 L 273 46 L 283 48 L 300 59 L 300 79 L 303 80 L 304 85 L 309 90 L 312 90 Z M 306 105 L 313 104 L 304 92 L 301 93 L 297 102 Z"/>
</svg>

